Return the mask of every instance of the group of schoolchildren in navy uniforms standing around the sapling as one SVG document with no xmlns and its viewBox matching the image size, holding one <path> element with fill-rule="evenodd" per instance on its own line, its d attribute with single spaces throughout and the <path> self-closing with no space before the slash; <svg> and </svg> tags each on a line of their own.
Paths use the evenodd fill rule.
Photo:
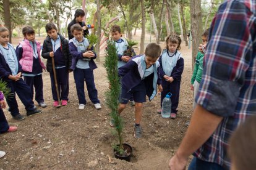
<svg viewBox="0 0 256 170">
<path fill-rule="evenodd" d="M 27 116 L 41 113 L 33 103 L 33 88 L 35 87 L 35 100 L 40 107 L 46 107 L 43 99 L 43 79 L 42 72 L 47 70 L 51 78 L 51 90 L 53 94 L 53 106 L 59 105 L 56 91 L 54 69 L 56 71 L 56 81 L 59 89 L 61 105 L 66 106 L 69 95 L 69 73 L 73 71 L 77 96 L 79 99 L 79 110 L 83 110 L 87 101 L 85 100 L 84 81 L 87 85 L 88 96 L 96 109 L 100 109 L 98 91 L 95 87 L 93 70 L 97 68 L 95 62 L 96 53 L 93 47 L 88 49 L 89 41 L 85 38 L 87 28 L 82 22 L 83 10 L 76 10 L 74 20 L 69 24 L 69 41 L 58 33 L 58 29 L 53 23 L 45 26 L 48 34 L 43 42 L 41 55 L 47 59 L 46 67 L 40 59 L 40 42 L 35 40 L 35 31 L 30 26 L 25 26 L 22 30 L 24 40 L 20 42 L 15 50 L 9 41 L 9 31 L 5 27 L 0 27 L 0 77 L 7 83 L 14 97 L 6 99 L 12 118 L 22 120 L 25 116 L 20 115 L 15 92 L 19 96 Z M 127 41 L 122 38 L 121 28 L 118 25 L 111 27 L 113 41 L 116 42 L 118 75 L 121 77 L 121 94 L 119 97 L 118 113 L 126 108 L 131 102 L 135 106 L 135 126 L 134 137 L 142 137 L 143 102 L 146 96 L 152 100 L 158 91 L 161 92 L 161 103 L 168 92 L 171 97 L 171 118 L 176 118 L 177 106 L 179 103 L 179 90 L 181 86 L 181 75 L 184 70 L 184 59 L 181 52 L 181 38 L 176 34 L 171 34 L 166 38 L 166 49 L 161 54 L 161 47 L 158 44 L 150 43 L 145 49 L 144 55 L 133 57 L 125 56 Z M 203 38 L 208 38 L 204 33 Z M 205 42 L 202 46 L 205 47 Z M 196 91 L 196 83 L 200 83 L 202 75 L 203 49 L 199 47 L 194 75 L 192 77 L 192 87 Z M 24 80 L 22 79 L 22 75 Z M 157 87 L 158 86 L 158 87 Z M 0 133 L 16 131 L 17 127 L 9 126 L 2 111 L 6 107 L 0 93 Z M 157 111 L 161 113 L 161 109 Z M 114 119 L 110 120 L 110 126 L 114 126 Z"/>
</svg>

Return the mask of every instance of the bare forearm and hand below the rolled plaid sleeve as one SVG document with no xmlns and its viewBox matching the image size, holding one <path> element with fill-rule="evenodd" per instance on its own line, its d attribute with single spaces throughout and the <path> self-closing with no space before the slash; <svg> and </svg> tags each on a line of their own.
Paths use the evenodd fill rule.
<svg viewBox="0 0 256 170">
<path fill-rule="evenodd" d="M 184 169 L 187 158 L 209 139 L 222 119 L 223 117 L 210 113 L 201 105 L 197 105 L 177 153 L 169 161 L 169 168 Z"/>
</svg>

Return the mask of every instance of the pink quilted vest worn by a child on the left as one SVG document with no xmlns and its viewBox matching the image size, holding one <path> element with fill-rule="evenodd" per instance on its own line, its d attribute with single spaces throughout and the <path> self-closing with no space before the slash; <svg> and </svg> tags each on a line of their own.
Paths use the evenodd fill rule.
<svg viewBox="0 0 256 170">
<path fill-rule="evenodd" d="M 24 41 L 20 42 L 20 44 L 22 44 L 22 49 L 23 49 L 22 59 L 20 59 L 20 65 L 22 66 L 22 70 L 32 72 L 33 58 L 34 58 L 33 49 L 30 46 L 29 41 L 27 39 L 24 39 Z M 40 62 L 41 67 L 45 69 L 45 65 L 43 64 L 43 62 L 41 62 L 41 58 L 40 58 L 40 51 L 41 51 L 40 42 L 35 41 L 35 44 L 38 52 L 38 60 Z"/>
</svg>

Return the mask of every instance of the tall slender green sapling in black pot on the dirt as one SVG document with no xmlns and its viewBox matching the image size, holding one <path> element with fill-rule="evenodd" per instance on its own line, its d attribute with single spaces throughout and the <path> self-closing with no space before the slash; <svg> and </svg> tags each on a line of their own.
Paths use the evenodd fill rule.
<svg viewBox="0 0 256 170">
<path fill-rule="evenodd" d="M 132 147 L 124 144 L 122 137 L 123 122 L 121 116 L 118 114 L 118 98 L 120 94 L 120 80 L 117 72 L 117 52 L 114 41 L 107 42 L 105 68 L 109 81 L 109 91 L 106 92 L 106 104 L 111 110 L 111 119 L 114 120 L 114 135 L 117 138 L 117 144 L 114 144 L 114 155 L 121 160 L 130 161 L 132 154 Z"/>
</svg>

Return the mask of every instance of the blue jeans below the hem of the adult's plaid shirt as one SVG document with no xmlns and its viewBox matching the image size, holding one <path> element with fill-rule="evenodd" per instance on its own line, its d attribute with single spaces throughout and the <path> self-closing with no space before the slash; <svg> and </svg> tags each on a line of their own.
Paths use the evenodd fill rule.
<svg viewBox="0 0 256 170">
<path fill-rule="evenodd" d="M 220 164 L 216 163 L 210 163 L 207 161 L 202 161 L 196 157 L 194 157 L 189 164 L 189 169 L 188 170 L 224 170 Z"/>
</svg>

